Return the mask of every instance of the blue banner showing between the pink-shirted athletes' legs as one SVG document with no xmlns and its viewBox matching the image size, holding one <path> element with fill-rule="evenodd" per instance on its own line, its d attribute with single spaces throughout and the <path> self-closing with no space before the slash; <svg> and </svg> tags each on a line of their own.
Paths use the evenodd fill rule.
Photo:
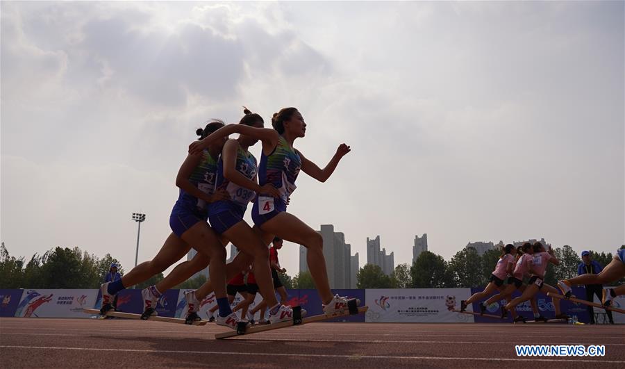
<svg viewBox="0 0 625 369">
<path fill-rule="evenodd" d="M 484 288 L 472 288 L 472 293 L 478 293 L 478 292 L 482 292 L 484 290 Z M 573 288 L 573 294 L 576 296 L 585 296 L 585 292 L 584 292 L 584 288 L 583 287 L 574 287 Z M 514 299 L 516 297 L 519 297 L 521 295 L 521 293 L 519 291 L 515 291 L 514 293 L 512 293 L 511 298 Z M 489 298 L 490 296 L 488 296 L 487 298 Z M 556 316 L 556 306 L 553 306 L 553 302 L 551 300 L 551 297 L 544 295 L 544 293 L 537 293 L 536 295 L 536 305 L 538 308 L 538 311 L 540 313 L 540 315 L 544 316 L 547 319 L 552 319 Z M 583 298 L 583 297 L 582 297 Z M 485 299 L 487 300 L 487 299 Z M 484 301 L 484 300 L 482 300 Z M 479 312 L 480 311 L 480 306 L 479 306 L 480 301 L 476 301 L 473 303 L 473 310 L 472 311 L 476 311 Z M 501 306 L 506 305 L 508 302 L 506 302 L 506 300 L 499 300 L 497 302 L 493 302 L 492 304 L 488 305 L 486 307 L 486 312 L 487 314 L 493 314 L 493 315 L 501 315 Z M 470 308 L 467 310 L 471 310 Z M 525 301 L 522 302 L 521 304 L 517 305 L 515 311 L 517 311 L 517 313 L 519 315 L 522 315 L 523 317 L 525 317 L 527 320 L 534 320 L 534 313 L 532 310 L 532 306 L 531 306 L 531 301 Z M 565 313 L 567 315 L 577 315 L 577 318 L 580 322 L 589 322 L 590 320 L 588 319 L 588 313 L 587 313 L 587 308 L 584 304 L 579 304 L 577 302 L 572 302 L 572 301 L 568 301 L 568 300 L 560 300 L 560 311 L 562 311 L 562 313 Z M 506 319 L 494 319 L 494 318 L 487 318 L 487 317 L 483 317 L 480 315 L 476 315 L 475 316 L 475 321 L 476 322 L 480 322 L 480 323 L 500 323 L 500 322 L 512 322 L 512 315 L 508 314 L 508 318 Z"/>
</svg>

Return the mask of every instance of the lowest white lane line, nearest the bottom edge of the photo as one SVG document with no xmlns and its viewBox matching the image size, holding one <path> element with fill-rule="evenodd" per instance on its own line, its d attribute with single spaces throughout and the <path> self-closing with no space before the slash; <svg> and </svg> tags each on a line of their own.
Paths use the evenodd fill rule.
<svg viewBox="0 0 625 369">
<path fill-rule="evenodd" d="M 142 352 L 153 354 L 209 354 L 209 355 L 247 355 L 247 356 L 297 356 L 297 357 L 327 357 L 339 359 L 410 359 L 410 360 L 468 360 L 468 361 L 543 361 L 558 363 L 625 363 L 624 360 L 584 360 L 584 359 L 515 359 L 515 358 L 492 358 L 492 357 L 439 357 L 439 356 L 392 356 L 392 355 L 338 355 L 338 354 L 287 354 L 283 352 L 227 352 L 227 351 L 189 351 L 189 350 L 135 350 L 113 348 L 89 348 L 89 347 L 42 347 L 42 346 L 16 346 L 0 345 L 3 348 L 16 349 L 39 349 L 39 350 L 78 350 L 78 351 L 105 351 L 105 352 Z"/>
</svg>

